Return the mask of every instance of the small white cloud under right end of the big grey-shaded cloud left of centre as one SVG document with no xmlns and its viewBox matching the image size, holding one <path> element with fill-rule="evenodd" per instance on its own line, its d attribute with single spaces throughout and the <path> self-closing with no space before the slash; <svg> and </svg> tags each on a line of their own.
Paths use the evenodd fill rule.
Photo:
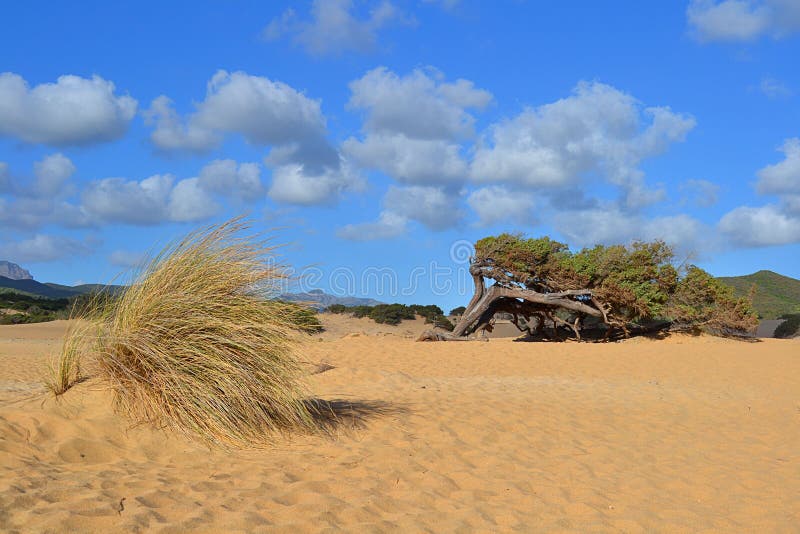
<svg viewBox="0 0 800 534">
<path fill-rule="evenodd" d="M 278 202 L 310 206 L 333 203 L 347 191 L 362 191 L 364 185 L 346 162 L 338 169 L 317 172 L 301 163 L 287 163 L 273 168 L 267 194 Z"/>
</svg>

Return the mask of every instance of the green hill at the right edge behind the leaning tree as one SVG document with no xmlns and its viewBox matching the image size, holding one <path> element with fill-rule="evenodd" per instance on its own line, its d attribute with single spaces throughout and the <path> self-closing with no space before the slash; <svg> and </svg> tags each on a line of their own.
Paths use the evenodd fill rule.
<svg viewBox="0 0 800 534">
<path fill-rule="evenodd" d="M 753 307 L 764 319 L 777 319 L 787 313 L 800 313 L 800 280 L 772 271 L 758 271 L 745 276 L 721 276 L 739 296 L 747 295 L 755 285 Z"/>
</svg>

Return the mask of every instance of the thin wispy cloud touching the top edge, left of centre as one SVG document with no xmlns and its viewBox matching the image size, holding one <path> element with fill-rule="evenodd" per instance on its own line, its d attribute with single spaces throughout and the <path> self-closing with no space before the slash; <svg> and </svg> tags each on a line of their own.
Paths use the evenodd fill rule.
<svg viewBox="0 0 800 534">
<path fill-rule="evenodd" d="M 402 11 L 386 0 L 373 3 L 369 13 L 355 13 L 352 0 L 314 0 L 310 18 L 302 20 L 293 9 L 270 21 L 262 37 L 268 41 L 291 36 L 295 44 L 314 56 L 346 51 L 370 52 L 378 32 L 392 23 L 410 23 Z"/>
</svg>

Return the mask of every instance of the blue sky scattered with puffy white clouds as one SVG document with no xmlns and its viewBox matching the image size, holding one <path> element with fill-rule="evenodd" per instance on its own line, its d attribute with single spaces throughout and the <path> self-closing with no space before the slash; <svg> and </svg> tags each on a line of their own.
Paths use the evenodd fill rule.
<svg viewBox="0 0 800 534">
<path fill-rule="evenodd" d="M 385 301 L 465 303 L 502 231 L 800 277 L 796 0 L 117 4 L 4 8 L 0 259 L 38 280 L 239 213 Z"/>
</svg>

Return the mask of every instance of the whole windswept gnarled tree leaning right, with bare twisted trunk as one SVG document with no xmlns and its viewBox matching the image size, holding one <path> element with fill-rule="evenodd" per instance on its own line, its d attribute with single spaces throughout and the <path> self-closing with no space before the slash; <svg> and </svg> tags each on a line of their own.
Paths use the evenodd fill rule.
<svg viewBox="0 0 800 534">
<path fill-rule="evenodd" d="M 419 339 L 470 339 L 491 329 L 498 313 L 531 336 L 566 332 L 578 340 L 587 323 L 603 331 L 602 339 L 628 337 L 658 320 L 661 327 L 723 334 L 755 328 L 750 299 L 735 298 L 698 267 L 681 275 L 673 258 L 663 241 L 573 253 L 549 237 L 486 237 L 475 244 L 469 267 L 475 294 L 461 320 L 452 332 L 429 330 Z"/>
</svg>

